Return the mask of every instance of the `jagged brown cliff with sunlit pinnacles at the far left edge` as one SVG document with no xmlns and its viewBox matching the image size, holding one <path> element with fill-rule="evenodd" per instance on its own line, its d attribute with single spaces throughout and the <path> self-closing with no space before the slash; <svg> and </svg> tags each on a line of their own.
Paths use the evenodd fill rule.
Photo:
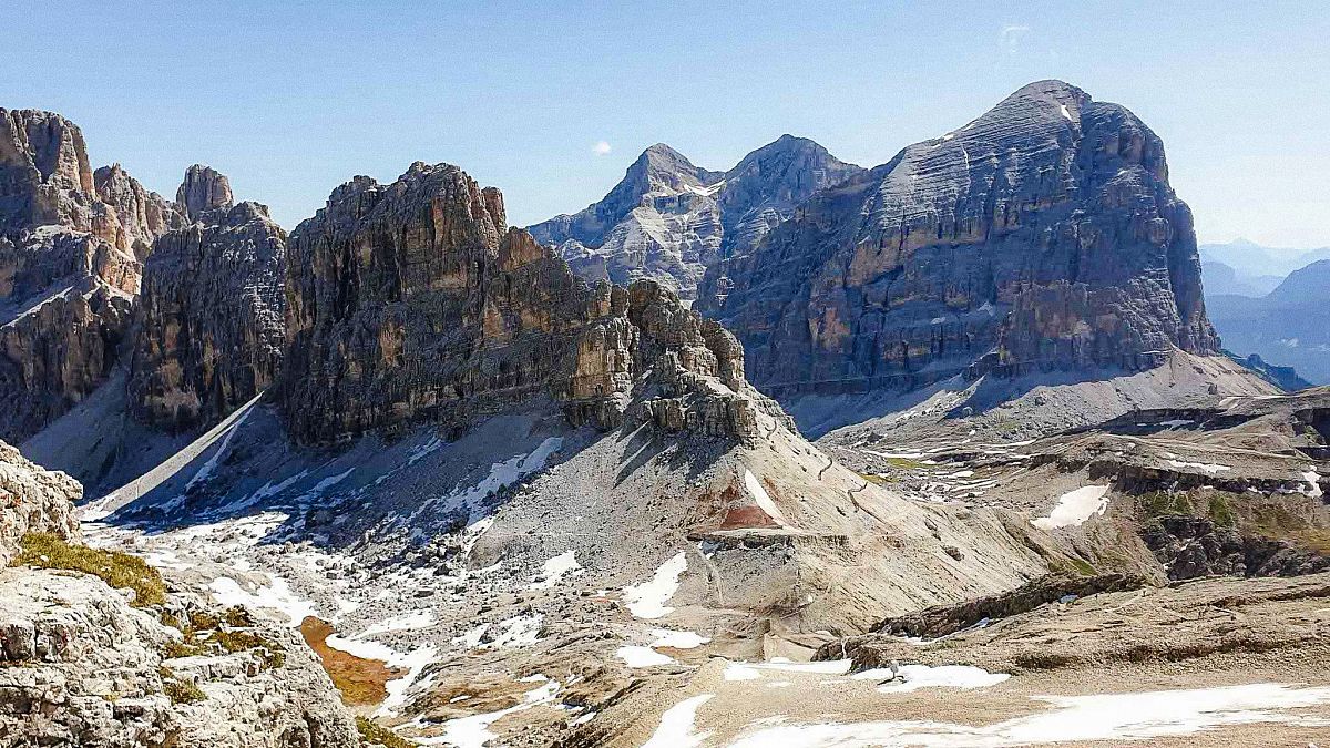
<svg viewBox="0 0 1330 748">
<path fill-rule="evenodd" d="M 0 437 L 20 441 L 110 373 L 152 238 L 182 224 L 51 112 L 0 109 Z"/>
</svg>

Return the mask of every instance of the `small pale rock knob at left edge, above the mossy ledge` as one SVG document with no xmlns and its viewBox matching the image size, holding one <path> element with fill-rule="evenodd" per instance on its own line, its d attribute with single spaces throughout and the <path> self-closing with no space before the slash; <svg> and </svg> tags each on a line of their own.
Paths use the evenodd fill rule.
<svg viewBox="0 0 1330 748">
<path fill-rule="evenodd" d="M 19 540 L 28 532 L 77 539 L 73 503 L 80 498 L 77 480 L 33 465 L 0 442 L 0 568 L 17 555 Z"/>
</svg>

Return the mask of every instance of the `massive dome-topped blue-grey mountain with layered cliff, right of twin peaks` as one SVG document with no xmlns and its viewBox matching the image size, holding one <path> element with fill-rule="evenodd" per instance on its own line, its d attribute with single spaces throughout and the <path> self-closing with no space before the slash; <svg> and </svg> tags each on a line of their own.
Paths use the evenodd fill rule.
<svg viewBox="0 0 1330 748">
<path fill-rule="evenodd" d="M 814 194 L 712 268 L 698 309 L 779 394 L 1217 350 L 1162 142 L 1060 81 Z"/>
</svg>

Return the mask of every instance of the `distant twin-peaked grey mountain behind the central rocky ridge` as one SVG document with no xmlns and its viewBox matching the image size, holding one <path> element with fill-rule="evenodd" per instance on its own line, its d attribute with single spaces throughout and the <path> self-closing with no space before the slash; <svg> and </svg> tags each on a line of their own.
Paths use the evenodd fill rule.
<svg viewBox="0 0 1330 748">
<path fill-rule="evenodd" d="M 720 258 L 753 246 L 794 205 L 858 172 L 806 138 L 782 136 L 729 172 L 648 148 L 600 202 L 528 230 L 559 246 L 573 272 L 626 285 L 652 278 L 685 298 Z"/>
</svg>

